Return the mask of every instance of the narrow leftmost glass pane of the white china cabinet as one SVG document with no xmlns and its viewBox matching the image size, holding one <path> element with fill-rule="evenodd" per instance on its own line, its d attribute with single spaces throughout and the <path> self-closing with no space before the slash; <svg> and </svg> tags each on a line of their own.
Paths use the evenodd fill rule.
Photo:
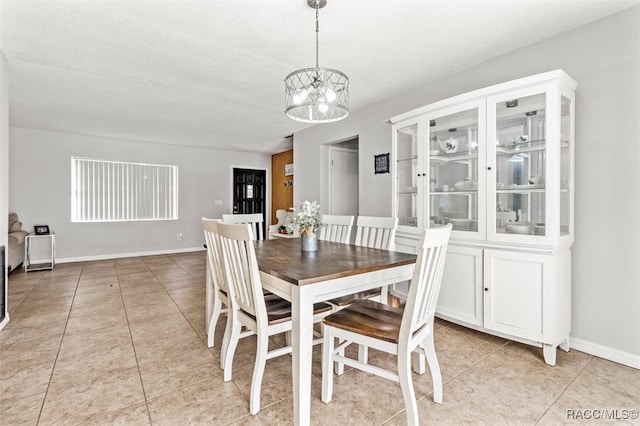
<svg viewBox="0 0 640 426">
<path fill-rule="evenodd" d="M 418 124 L 400 126 L 395 132 L 395 145 L 398 224 L 418 226 Z"/>
</svg>

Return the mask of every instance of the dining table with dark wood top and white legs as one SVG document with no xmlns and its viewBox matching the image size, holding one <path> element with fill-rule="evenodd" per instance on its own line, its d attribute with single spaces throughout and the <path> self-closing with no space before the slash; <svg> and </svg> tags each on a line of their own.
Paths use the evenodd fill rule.
<svg viewBox="0 0 640 426">
<path fill-rule="evenodd" d="M 263 288 L 291 302 L 293 421 L 308 425 L 314 303 L 409 280 L 416 255 L 329 241 L 307 252 L 299 238 L 256 241 L 255 253 Z"/>
</svg>

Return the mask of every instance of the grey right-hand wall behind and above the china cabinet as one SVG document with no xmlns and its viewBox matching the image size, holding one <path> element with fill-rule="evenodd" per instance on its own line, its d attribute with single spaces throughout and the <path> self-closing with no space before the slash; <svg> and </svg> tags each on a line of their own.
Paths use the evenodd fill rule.
<svg viewBox="0 0 640 426">
<path fill-rule="evenodd" d="M 637 6 L 354 111 L 344 121 L 296 133 L 295 167 L 306 172 L 296 175 L 294 198 L 326 205 L 321 146 L 359 136 L 360 213 L 391 215 L 391 177 L 373 173 L 373 156 L 391 150 L 384 120 L 470 90 L 564 69 L 578 81 L 574 346 L 640 367 L 639 52 Z M 357 96 L 353 89 L 351 96 Z"/>
</svg>

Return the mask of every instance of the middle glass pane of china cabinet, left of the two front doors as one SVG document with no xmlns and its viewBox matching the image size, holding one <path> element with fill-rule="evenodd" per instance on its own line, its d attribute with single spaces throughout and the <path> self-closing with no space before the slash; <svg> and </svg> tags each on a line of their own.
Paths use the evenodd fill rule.
<svg viewBox="0 0 640 426">
<path fill-rule="evenodd" d="M 479 127 L 481 110 L 479 104 L 467 104 L 430 116 L 428 121 L 429 223 L 451 223 L 454 232 L 464 232 L 466 237 L 477 236 L 478 221 L 483 220 L 479 214 L 484 204 L 478 196 L 484 189 L 478 155 L 478 147 L 484 143 L 484 126 Z"/>
</svg>

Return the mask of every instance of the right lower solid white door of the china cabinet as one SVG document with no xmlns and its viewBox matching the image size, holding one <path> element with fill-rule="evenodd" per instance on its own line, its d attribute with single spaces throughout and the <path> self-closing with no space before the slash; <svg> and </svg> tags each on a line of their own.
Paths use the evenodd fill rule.
<svg viewBox="0 0 640 426">
<path fill-rule="evenodd" d="M 541 341 L 550 256 L 484 251 L 484 327 Z"/>
</svg>

